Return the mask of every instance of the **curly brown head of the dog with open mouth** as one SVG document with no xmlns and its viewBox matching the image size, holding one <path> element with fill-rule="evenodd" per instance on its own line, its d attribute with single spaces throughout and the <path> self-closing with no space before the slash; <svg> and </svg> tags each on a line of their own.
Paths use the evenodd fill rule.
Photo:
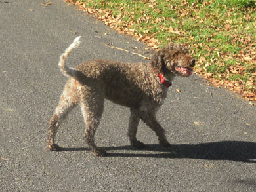
<svg viewBox="0 0 256 192">
<path fill-rule="evenodd" d="M 163 73 L 167 78 L 173 75 L 188 77 L 192 75 L 191 67 L 196 60 L 181 45 L 171 43 L 156 52 L 150 63 L 158 73 Z"/>
</svg>

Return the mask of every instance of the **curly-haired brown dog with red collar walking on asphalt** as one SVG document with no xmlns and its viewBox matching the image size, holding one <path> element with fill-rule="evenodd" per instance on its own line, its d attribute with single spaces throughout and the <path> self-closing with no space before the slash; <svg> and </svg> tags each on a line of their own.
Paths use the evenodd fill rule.
<svg viewBox="0 0 256 192">
<path fill-rule="evenodd" d="M 189 67 L 194 66 L 195 59 L 188 54 L 188 50 L 181 45 L 171 44 L 156 52 L 148 64 L 92 60 L 72 69 L 65 65 L 65 60 L 72 49 L 79 45 L 79 38 L 60 56 L 60 71 L 70 78 L 49 122 L 48 149 L 60 151 L 61 148 L 54 144 L 60 120 L 69 109 L 79 104 L 85 121 L 85 142 L 95 155 L 106 155 L 106 151 L 95 145 L 95 131 L 102 117 L 105 98 L 129 107 L 131 116 L 127 136 L 133 147 L 144 147 L 136 138 L 140 119 L 156 132 L 161 146 L 169 147 L 155 114 L 163 104 L 173 77 L 192 74 Z"/>
</svg>

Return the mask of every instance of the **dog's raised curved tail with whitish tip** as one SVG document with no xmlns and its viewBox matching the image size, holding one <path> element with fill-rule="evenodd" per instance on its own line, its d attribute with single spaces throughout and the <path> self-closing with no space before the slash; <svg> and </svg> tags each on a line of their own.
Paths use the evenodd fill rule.
<svg viewBox="0 0 256 192">
<path fill-rule="evenodd" d="M 72 50 L 79 46 L 79 44 L 81 43 L 79 41 L 80 38 L 81 36 L 74 39 L 73 43 L 71 43 L 70 46 L 65 50 L 65 52 L 60 56 L 60 61 L 58 62 L 58 67 L 60 67 L 60 71 L 68 77 L 75 77 L 75 69 L 73 69 L 72 67 L 68 67 L 65 64 L 65 60 L 70 55 Z"/>
</svg>

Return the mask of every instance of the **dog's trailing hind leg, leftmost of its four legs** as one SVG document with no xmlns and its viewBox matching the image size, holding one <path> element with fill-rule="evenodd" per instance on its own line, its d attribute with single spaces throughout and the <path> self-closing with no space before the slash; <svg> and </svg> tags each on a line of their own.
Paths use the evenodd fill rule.
<svg viewBox="0 0 256 192">
<path fill-rule="evenodd" d="M 56 136 L 56 130 L 60 125 L 60 121 L 64 119 L 64 115 L 70 111 L 70 109 L 74 108 L 75 106 L 74 98 L 68 96 L 68 94 L 64 91 L 62 96 L 60 96 L 60 101 L 58 103 L 57 108 L 55 109 L 53 116 L 49 121 L 49 138 L 47 142 L 47 148 L 51 151 L 60 151 L 60 147 L 54 143 L 54 138 Z"/>
</svg>

